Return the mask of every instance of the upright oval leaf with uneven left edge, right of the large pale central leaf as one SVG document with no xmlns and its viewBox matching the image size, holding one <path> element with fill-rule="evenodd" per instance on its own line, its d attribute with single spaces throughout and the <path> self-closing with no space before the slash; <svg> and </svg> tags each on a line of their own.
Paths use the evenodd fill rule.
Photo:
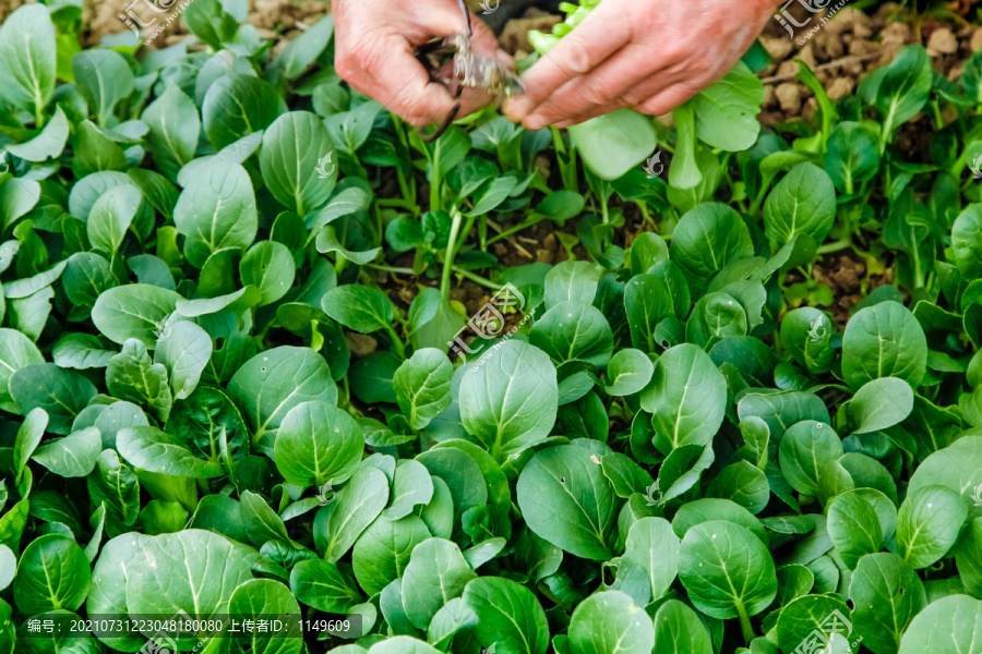
<svg viewBox="0 0 982 654">
<path fill-rule="evenodd" d="M 675 346 L 655 362 L 642 391 L 642 408 L 654 414 L 655 445 L 668 455 L 683 445 L 706 445 L 723 419 L 727 383 L 703 350 Z"/>
</svg>

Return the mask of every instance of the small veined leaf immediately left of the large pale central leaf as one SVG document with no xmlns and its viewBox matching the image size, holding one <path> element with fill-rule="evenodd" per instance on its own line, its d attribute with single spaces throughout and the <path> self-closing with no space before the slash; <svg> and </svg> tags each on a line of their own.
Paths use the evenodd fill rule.
<svg viewBox="0 0 982 654">
<path fill-rule="evenodd" d="M 451 405 L 453 375 L 450 359 L 434 348 L 417 350 L 399 365 L 392 383 L 409 426 L 423 429 Z"/>
</svg>

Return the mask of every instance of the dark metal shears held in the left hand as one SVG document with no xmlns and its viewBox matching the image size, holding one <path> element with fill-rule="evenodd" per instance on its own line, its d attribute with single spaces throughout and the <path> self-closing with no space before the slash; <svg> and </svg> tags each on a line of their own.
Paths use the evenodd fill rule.
<svg viewBox="0 0 982 654">
<path fill-rule="evenodd" d="M 465 86 L 471 88 L 484 88 L 493 95 L 503 94 L 511 97 L 525 93 L 525 84 L 518 75 L 510 71 L 500 62 L 488 57 L 475 55 L 470 45 L 474 31 L 470 25 L 470 11 L 464 0 L 457 0 L 464 14 L 464 29 L 434 39 L 416 49 L 416 58 L 422 63 L 431 82 L 442 84 L 454 98 L 454 107 L 432 135 L 423 136 L 427 141 L 435 141 L 446 131 L 457 113 L 460 111 L 460 95 Z M 453 74 L 447 76 L 447 65 L 441 61 L 442 57 L 452 55 Z"/>
</svg>

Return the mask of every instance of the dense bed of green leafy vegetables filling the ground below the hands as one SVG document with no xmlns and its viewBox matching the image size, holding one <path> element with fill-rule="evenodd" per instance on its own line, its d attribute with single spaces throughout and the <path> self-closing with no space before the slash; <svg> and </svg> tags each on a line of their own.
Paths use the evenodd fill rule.
<svg viewBox="0 0 982 654">
<path fill-rule="evenodd" d="M 247 14 L 0 26 L 0 653 L 982 654 L 982 55 L 429 143 Z"/>
</svg>

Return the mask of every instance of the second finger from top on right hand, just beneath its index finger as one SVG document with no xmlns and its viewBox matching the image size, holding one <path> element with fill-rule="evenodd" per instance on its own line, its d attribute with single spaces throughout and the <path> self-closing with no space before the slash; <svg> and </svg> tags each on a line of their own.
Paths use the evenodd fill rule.
<svg viewBox="0 0 982 654">
<path fill-rule="evenodd" d="M 539 105 L 526 122 L 556 123 L 618 102 L 638 82 L 658 73 L 650 69 L 646 59 L 640 48 L 628 44 L 586 75 L 566 82 Z"/>
</svg>

